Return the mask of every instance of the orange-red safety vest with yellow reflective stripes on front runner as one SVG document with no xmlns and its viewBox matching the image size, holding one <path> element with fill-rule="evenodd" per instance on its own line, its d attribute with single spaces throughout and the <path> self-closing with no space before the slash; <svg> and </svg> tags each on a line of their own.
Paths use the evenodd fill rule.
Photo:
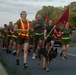
<svg viewBox="0 0 76 75">
<path fill-rule="evenodd" d="M 21 38 L 26 38 L 26 39 L 28 39 L 28 38 L 29 38 L 29 28 L 30 28 L 29 21 L 26 19 L 27 24 L 24 24 L 24 23 L 22 22 L 22 19 L 20 19 L 20 22 L 21 22 L 20 29 L 25 29 L 25 32 L 19 31 L 19 32 L 18 32 L 18 35 L 19 35 Z"/>
</svg>

